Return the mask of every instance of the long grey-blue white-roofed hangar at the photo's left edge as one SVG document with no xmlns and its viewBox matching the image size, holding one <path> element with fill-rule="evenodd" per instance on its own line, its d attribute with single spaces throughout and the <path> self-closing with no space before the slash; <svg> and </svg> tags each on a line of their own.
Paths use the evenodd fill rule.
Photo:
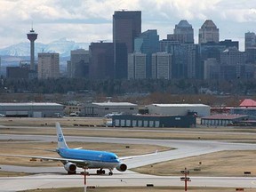
<svg viewBox="0 0 256 192">
<path fill-rule="evenodd" d="M 6 117 L 63 116 L 64 106 L 58 103 L 0 103 L 0 114 Z"/>
</svg>

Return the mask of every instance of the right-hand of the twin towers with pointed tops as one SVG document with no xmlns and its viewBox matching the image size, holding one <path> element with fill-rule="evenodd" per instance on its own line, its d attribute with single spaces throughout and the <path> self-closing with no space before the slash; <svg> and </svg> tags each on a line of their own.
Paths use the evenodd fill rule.
<svg viewBox="0 0 256 192">
<path fill-rule="evenodd" d="M 219 28 L 216 27 L 212 20 L 205 20 L 201 28 L 199 28 L 199 44 L 209 42 L 219 43 Z"/>
</svg>

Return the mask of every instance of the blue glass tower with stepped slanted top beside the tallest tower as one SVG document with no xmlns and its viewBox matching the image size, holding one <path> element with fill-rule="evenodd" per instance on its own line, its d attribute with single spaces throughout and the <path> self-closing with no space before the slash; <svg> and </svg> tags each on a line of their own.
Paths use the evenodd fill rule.
<svg viewBox="0 0 256 192">
<path fill-rule="evenodd" d="M 149 29 L 134 40 L 134 52 L 146 54 L 146 77 L 151 78 L 151 56 L 159 50 L 159 36 L 156 29 Z"/>
</svg>

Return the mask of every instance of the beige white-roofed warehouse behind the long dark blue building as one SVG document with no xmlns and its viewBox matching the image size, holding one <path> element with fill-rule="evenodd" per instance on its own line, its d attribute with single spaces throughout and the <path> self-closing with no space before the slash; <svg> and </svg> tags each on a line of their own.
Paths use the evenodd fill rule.
<svg viewBox="0 0 256 192">
<path fill-rule="evenodd" d="M 149 115 L 163 116 L 210 116 L 210 106 L 204 104 L 152 104 L 146 106 Z"/>
</svg>

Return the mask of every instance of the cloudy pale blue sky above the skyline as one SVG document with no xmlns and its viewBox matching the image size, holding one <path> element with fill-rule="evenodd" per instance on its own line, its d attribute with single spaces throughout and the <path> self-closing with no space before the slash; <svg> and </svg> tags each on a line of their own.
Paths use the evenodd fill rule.
<svg viewBox="0 0 256 192">
<path fill-rule="evenodd" d="M 28 41 L 32 23 L 44 44 L 112 42 L 112 16 L 121 10 L 141 11 L 142 32 L 157 29 L 160 39 L 180 20 L 193 26 L 196 43 L 204 20 L 213 20 L 220 40 L 239 41 L 241 51 L 244 33 L 256 33 L 256 0 L 0 0 L 0 48 Z"/>
</svg>

